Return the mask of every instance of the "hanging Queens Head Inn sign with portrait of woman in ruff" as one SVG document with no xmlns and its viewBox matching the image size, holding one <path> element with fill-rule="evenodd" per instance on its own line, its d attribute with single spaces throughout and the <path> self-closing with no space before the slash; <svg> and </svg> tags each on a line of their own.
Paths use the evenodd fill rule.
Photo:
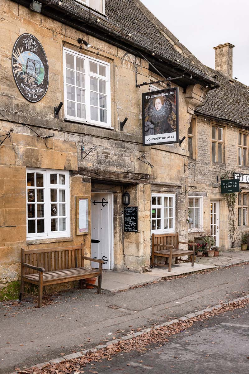
<svg viewBox="0 0 249 374">
<path fill-rule="evenodd" d="M 178 143 L 178 88 L 142 95 L 143 145 Z"/>
</svg>

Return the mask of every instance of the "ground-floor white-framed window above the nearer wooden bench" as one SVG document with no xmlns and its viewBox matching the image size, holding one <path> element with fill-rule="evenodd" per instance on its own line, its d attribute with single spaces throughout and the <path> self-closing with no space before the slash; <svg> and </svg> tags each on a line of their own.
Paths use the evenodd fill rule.
<svg viewBox="0 0 249 374">
<path fill-rule="evenodd" d="M 69 171 L 27 169 L 27 239 L 70 235 Z"/>
</svg>

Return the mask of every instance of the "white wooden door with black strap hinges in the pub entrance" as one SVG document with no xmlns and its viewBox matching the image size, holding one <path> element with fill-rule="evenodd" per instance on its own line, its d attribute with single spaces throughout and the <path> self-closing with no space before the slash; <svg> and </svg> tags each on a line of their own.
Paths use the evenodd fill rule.
<svg viewBox="0 0 249 374">
<path fill-rule="evenodd" d="M 91 195 L 91 257 L 105 260 L 103 269 L 111 269 L 111 197 L 109 193 Z M 97 263 L 91 263 L 98 267 Z"/>
</svg>

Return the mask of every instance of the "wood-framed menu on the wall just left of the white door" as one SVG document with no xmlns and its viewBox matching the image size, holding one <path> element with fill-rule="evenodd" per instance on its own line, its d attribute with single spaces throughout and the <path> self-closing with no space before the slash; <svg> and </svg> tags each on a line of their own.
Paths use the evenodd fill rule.
<svg viewBox="0 0 249 374">
<path fill-rule="evenodd" d="M 89 227 L 89 198 L 86 196 L 76 196 L 75 210 L 76 235 L 88 234 Z"/>
</svg>

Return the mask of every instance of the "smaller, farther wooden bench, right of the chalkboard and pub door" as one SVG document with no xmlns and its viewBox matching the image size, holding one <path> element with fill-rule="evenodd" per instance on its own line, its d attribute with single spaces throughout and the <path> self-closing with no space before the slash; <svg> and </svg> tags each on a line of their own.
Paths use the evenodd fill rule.
<svg viewBox="0 0 249 374">
<path fill-rule="evenodd" d="M 180 249 L 179 244 L 188 244 L 193 246 L 193 251 L 186 249 Z M 184 262 L 191 262 L 194 266 L 194 253 L 196 243 L 179 242 L 178 233 L 174 234 L 152 234 L 152 258 L 151 264 L 158 266 L 167 266 L 165 264 L 154 263 L 155 256 L 168 257 L 169 259 L 169 272 L 171 272 L 172 257 L 175 257 L 175 263 L 177 264 L 178 257 L 192 255 L 192 261 L 182 260 Z"/>
</svg>

